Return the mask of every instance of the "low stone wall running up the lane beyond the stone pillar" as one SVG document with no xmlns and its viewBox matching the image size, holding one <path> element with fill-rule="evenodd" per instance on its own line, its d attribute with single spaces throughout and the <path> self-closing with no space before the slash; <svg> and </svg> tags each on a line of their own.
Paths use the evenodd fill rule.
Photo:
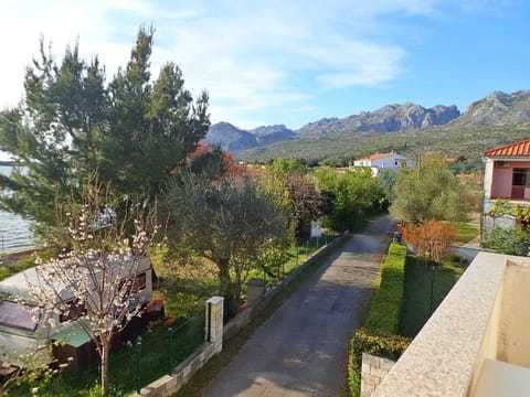
<svg viewBox="0 0 530 397">
<path fill-rule="evenodd" d="M 278 282 L 274 287 L 271 287 L 265 291 L 265 294 L 256 300 L 254 303 L 248 304 L 243 311 L 237 313 L 235 318 L 230 320 L 224 325 L 224 339 L 231 339 L 235 336 L 241 330 L 243 330 L 248 323 L 251 323 L 259 313 L 262 313 L 271 303 L 273 298 L 280 291 L 283 291 L 290 282 L 293 282 L 300 272 L 306 271 L 308 267 L 310 267 L 315 260 L 320 258 L 325 255 L 331 247 L 342 242 L 344 238 L 348 238 L 349 235 L 342 235 L 337 237 L 332 242 L 328 243 L 327 245 L 320 247 L 316 253 L 314 253 L 304 264 L 301 264 L 298 268 L 296 268 L 289 277 L 285 280 Z"/>
</svg>

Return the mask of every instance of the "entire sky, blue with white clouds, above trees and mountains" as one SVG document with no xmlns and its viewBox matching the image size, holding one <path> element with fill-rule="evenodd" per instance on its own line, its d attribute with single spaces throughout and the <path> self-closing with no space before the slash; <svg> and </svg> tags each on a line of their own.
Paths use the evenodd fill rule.
<svg viewBox="0 0 530 397">
<path fill-rule="evenodd" d="M 241 128 L 530 88 L 526 0 L 1 0 L 0 107 L 21 99 L 41 34 L 59 58 L 78 37 L 112 76 L 151 23 L 153 73 L 177 63 L 212 122 Z"/>
</svg>

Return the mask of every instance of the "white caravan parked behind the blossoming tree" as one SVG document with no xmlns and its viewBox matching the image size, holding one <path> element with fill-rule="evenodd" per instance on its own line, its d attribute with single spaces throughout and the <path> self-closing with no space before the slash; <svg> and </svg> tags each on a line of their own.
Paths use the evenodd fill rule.
<svg viewBox="0 0 530 397">
<path fill-rule="evenodd" d="M 87 355 L 93 355 L 95 350 L 89 346 L 93 342 L 87 328 L 80 322 L 89 321 L 85 318 L 86 305 L 99 304 L 95 283 L 100 282 L 104 271 L 116 285 L 130 280 L 126 287 L 132 293 L 127 302 L 129 310 L 142 308 L 152 299 L 152 266 L 147 257 L 123 256 L 119 260 L 113 259 L 105 270 L 98 267 L 97 258 L 94 261 L 92 273 L 81 266 L 68 267 L 80 279 L 92 280 L 86 283 L 93 288 L 84 297 L 84 303 L 64 279 L 57 278 L 52 287 L 43 281 L 46 273 L 57 271 L 50 265 L 29 268 L 0 281 L 0 367 L 25 367 L 28 361 L 47 364 L 54 357 L 64 357 L 64 350 L 77 356 L 80 363 L 87 362 Z M 54 301 L 45 303 L 41 296 L 54 297 Z M 52 346 L 53 341 L 65 347 Z M 74 367 L 78 368 L 80 363 L 74 363 Z"/>
</svg>

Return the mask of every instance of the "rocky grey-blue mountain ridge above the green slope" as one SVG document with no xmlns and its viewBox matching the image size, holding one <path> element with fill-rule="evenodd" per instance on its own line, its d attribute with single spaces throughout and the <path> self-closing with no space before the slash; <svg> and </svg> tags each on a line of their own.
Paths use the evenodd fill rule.
<svg viewBox="0 0 530 397">
<path fill-rule="evenodd" d="M 324 118 L 309 122 L 298 130 L 284 125 L 263 126 L 252 130 L 237 128 L 230 122 L 210 127 L 205 141 L 224 150 L 242 151 L 296 139 L 332 138 L 344 133 L 400 132 L 432 127 L 484 127 L 520 125 L 530 121 L 530 90 L 512 94 L 494 92 L 470 104 L 460 114 L 455 105 L 436 105 L 424 108 L 404 103 L 386 105 L 374 111 L 362 111 L 344 118 Z"/>
</svg>

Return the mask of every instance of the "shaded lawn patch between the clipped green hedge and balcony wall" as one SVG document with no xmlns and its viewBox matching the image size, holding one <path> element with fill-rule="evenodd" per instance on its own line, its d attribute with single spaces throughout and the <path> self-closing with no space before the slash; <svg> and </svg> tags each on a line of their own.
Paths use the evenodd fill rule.
<svg viewBox="0 0 530 397">
<path fill-rule="evenodd" d="M 464 272 L 462 267 L 452 262 L 433 266 L 423 257 L 410 256 L 405 266 L 405 288 L 401 314 L 401 334 L 414 337 L 428 318 L 444 300 L 458 278 Z M 433 303 L 431 308 L 431 286 Z"/>
</svg>

